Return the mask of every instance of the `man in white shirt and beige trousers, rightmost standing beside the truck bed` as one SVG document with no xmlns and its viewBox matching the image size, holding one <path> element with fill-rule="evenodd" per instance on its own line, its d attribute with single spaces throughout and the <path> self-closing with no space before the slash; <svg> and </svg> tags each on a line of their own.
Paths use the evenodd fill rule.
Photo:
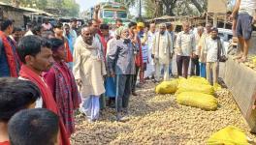
<svg viewBox="0 0 256 145">
<path fill-rule="evenodd" d="M 211 28 L 211 37 L 206 40 L 205 56 L 207 61 L 207 78 L 210 84 L 217 83 L 218 79 L 218 64 L 223 49 L 223 42 L 218 37 L 218 29 Z"/>
</svg>

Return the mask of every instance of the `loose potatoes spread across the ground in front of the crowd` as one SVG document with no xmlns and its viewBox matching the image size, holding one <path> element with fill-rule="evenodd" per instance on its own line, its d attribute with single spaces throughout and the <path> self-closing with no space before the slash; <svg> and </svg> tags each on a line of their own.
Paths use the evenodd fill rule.
<svg viewBox="0 0 256 145">
<path fill-rule="evenodd" d="M 140 96 L 131 97 L 130 118 L 125 123 L 114 121 L 111 108 L 96 123 L 77 116 L 72 144 L 206 144 L 213 132 L 229 125 L 255 139 L 228 90 L 217 92 L 216 111 L 204 111 L 179 105 L 173 95 L 155 95 L 154 87 L 148 82 L 138 91 Z"/>
</svg>

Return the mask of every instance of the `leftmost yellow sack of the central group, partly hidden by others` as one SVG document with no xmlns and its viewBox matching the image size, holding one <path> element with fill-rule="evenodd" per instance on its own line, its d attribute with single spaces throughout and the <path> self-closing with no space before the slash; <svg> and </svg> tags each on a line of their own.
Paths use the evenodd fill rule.
<svg viewBox="0 0 256 145">
<path fill-rule="evenodd" d="M 171 81 L 163 81 L 155 88 L 155 93 L 157 94 L 172 94 L 176 93 L 178 85 L 178 79 L 174 79 Z"/>
</svg>

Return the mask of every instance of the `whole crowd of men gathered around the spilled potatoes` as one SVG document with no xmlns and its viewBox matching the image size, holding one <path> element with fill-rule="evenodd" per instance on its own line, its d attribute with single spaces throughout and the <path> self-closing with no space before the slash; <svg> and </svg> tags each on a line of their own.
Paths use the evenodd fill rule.
<svg viewBox="0 0 256 145">
<path fill-rule="evenodd" d="M 69 145 L 76 110 L 93 123 L 101 110 L 113 107 L 116 120 L 125 121 L 136 88 L 146 80 L 170 80 L 173 62 L 177 76 L 188 77 L 190 65 L 190 75 L 213 85 L 219 62 L 226 60 L 218 29 L 210 23 L 192 31 L 184 21 L 178 33 L 170 22 L 127 27 L 116 19 L 110 28 L 97 16 L 80 32 L 75 18 L 70 24 L 28 24 L 26 32 L 10 19 L 0 27 L 0 145 Z M 237 32 L 246 43 L 249 32 L 240 27 Z"/>
</svg>

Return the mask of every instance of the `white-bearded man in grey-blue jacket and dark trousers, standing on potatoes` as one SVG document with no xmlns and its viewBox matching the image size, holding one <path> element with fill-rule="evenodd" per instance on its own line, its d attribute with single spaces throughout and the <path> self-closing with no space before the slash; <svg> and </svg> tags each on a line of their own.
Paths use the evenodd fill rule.
<svg viewBox="0 0 256 145">
<path fill-rule="evenodd" d="M 121 117 L 121 112 L 128 114 L 135 74 L 135 48 L 129 39 L 128 28 L 122 26 L 118 31 L 121 32 L 120 40 L 117 40 L 112 50 L 108 52 L 108 71 L 115 79 L 117 120 L 120 121 L 124 119 Z"/>
</svg>

